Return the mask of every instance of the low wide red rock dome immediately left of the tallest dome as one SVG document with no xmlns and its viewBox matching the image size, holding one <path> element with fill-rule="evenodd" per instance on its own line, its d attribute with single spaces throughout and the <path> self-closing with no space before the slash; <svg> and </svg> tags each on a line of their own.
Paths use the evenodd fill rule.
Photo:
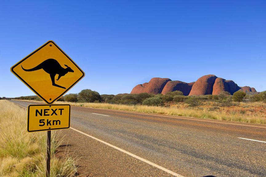
<svg viewBox="0 0 266 177">
<path fill-rule="evenodd" d="M 162 94 L 165 95 L 166 92 L 181 91 L 183 95 L 188 96 L 190 90 L 195 82 L 186 83 L 182 81 L 168 81 L 165 85 Z"/>
</svg>

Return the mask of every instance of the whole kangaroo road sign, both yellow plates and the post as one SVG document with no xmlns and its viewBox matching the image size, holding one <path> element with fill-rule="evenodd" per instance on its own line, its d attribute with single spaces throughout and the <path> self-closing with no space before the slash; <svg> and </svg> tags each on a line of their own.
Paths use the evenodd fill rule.
<svg viewBox="0 0 266 177">
<path fill-rule="evenodd" d="M 53 104 L 85 73 L 66 53 L 47 41 L 11 67 L 11 72 L 47 104 L 28 106 L 28 132 L 46 132 L 46 177 L 50 177 L 51 130 L 70 127 L 70 105 Z"/>
</svg>

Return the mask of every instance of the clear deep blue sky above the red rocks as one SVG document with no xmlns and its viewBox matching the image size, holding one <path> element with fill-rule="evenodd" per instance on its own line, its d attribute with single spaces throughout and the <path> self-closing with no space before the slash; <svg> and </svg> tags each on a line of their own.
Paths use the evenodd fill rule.
<svg viewBox="0 0 266 177">
<path fill-rule="evenodd" d="M 2 1 L 0 96 L 34 95 L 10 67 L 53 40 L 85 72 L 68 93 L 130 93 L 206 74 L 266 90 L 265 1 Z"/>
</svg>

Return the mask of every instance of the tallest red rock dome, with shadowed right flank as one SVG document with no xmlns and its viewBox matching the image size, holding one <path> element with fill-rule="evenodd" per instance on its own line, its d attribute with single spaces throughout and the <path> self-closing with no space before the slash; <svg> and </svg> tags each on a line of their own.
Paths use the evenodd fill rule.
<svg viewBox="0 0 266 177">
<path fill-rule="evenodd" d="M 216 78 L 211 74 L 200 77 L 192 86 L 189 95 L 211 95 Z"/>
</svg>

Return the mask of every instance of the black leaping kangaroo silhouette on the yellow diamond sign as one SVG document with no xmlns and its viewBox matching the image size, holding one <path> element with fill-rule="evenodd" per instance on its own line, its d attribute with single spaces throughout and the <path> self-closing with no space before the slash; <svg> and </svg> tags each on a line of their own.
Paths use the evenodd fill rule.
<svg viewBox="0 0 266 177">
<path fill-rule="evenodd" d="M 58 63 L 58 61 L 56 61 L 53 58 L 50 58 L 50 59 L 43 61 L 41 64 L 39 64 L 38 66 L 35 66 L 32 69 L 24 69 L 21 65 L 21 67 L 24 71 L 36 71 L 39 69 L 43 69 L 46 73 L 50 74 L 50 77 L 52 80 L 52 85 L 56 86 L 56 87 L 60 87 L 62 89 L 66 89 L 66 88 L 54 83 L 55 75 L 58 74 L 58 78 L 57 78 L 57 81 L 58 81 L 60 79 L 60 77 L 65 76 L 66 73 L 68 73 L 68 72 L 73 73 L 74 72 L 68 65 L 65 65 L 65 66 L 67 68 L 62 68 L 62 66 Z"/>
</svg>

